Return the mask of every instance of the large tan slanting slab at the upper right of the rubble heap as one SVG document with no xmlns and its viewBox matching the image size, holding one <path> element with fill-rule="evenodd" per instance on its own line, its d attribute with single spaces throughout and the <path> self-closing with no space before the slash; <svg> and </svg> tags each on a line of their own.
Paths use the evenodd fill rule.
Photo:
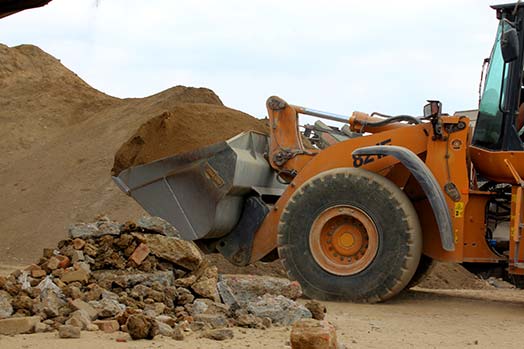
<svg viewBox="0 0 524 349">
<path fill-rule="evenodd" d="M 134 233 L 133 235 L 145 242 L 155 256 L 183 268 L 197 270 L 202 263 L 202 254 L 192 241 L 157 234 Z"/>
</svg>

